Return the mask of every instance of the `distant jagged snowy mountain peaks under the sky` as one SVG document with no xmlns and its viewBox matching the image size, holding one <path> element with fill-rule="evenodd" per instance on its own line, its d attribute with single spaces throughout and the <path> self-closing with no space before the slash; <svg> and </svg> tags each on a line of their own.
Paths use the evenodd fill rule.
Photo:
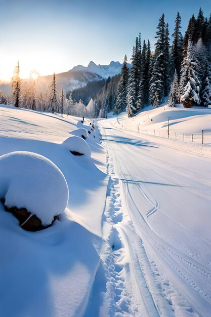
<svg viewBox="0 0 211 317">
<path fill-rule="evenodd" d="M 82 72 L 82 73 L 91 72 L 91 73 L 98 74 L 103 78 L 108 78 L 109 76 L 113 77 L 115 75 L 120 74 L 121 67 L 122 67 L 122 64 L 120 64 L 119 62 L 111 61 L 109 65 L 100 65 L 100 64 L 96 65 L 93 61 L 91 61 L 87 67 L 82 65 L 77 65 L 77 66 L 74 66 L 69 71 Z"/>
</svg>

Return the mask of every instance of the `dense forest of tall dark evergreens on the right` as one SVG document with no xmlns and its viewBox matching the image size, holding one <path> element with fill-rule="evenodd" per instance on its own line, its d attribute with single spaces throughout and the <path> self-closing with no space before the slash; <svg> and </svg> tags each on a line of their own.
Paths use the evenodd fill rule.
<svg viewBox="0 0 211 317">
<path fill-rule="evenodd" d="M 130 70 L 124 57 L 114 113 L 126 109 L 131 117 L 149 103 L 158 107 L 168 95 L 170 106 L 178 102 L 185 107 L 211 104 L 211 15 L 207 21 L 199 9 L 198 17 L 190 18 L 184 37 L 180 29 L 178 12 L 170 45 L 168 23 L 162 14 L 154 52 L 149 41 L 142 46 L 139 34 Z"/>
</svg>

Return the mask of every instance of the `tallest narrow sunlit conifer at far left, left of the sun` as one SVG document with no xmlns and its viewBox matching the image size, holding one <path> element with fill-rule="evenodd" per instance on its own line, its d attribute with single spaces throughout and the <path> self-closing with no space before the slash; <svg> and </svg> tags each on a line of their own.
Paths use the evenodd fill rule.
<svg viewBox="0 0 211 317">
<path fill-rule="evenodd" d="M 19 108 L 21 104 L 21 79 L 20 79 L 20 63 L 17 62 L 17 65 L 14 70 L 14 74 L 11 81 L 12 88 L 12 105 Z"/>
</svg>

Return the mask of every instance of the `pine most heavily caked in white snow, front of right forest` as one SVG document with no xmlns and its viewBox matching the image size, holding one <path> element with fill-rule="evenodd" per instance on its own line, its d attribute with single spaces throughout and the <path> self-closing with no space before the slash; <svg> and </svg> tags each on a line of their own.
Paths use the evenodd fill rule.
<svg viewBox="0 0 211 317">
<path fill-rule="evenodd" d="M 183 60 L 180 77 L 180 100 L 183 102 L 184 107 L 199 105 L 201 102 L 199 97 L 201 84 L 196 75 L 198 61 L 195 58 L 194 53 L 195 47 L 189 40 L 187 57 Z"/>
</svg>

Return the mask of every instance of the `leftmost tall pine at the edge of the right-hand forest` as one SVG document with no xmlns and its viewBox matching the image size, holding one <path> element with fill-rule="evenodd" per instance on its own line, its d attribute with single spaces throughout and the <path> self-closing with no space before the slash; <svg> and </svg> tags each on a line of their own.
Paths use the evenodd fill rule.
<svg viewBox="0 0 211 317">
<path fill-rule="evenodd" d="M 118 87 L 118 95 L 117 95 L 116 103 L 114 106 L 115 114 L 118 114 L 122 110 L 124 110 L 127 104 L 127 88 L 128 88 L 128 77 L 129 77 L 127 61 L 128 59 L 125 55 L 122 68 L 121 68 L 121 80 Z"/>
</svg>

